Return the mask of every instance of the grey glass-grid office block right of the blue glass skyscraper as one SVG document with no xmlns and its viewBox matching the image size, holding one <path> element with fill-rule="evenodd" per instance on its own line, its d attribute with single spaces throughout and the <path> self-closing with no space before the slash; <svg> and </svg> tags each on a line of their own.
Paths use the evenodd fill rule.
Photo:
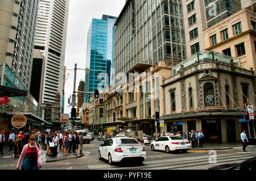
<svg viewBox="0 0 256 181">
<path fill-rule="evenodd" d="M 115 26 L 115 75 L 186 58 L 181 1 L 128 0 Z"/>
</svg>

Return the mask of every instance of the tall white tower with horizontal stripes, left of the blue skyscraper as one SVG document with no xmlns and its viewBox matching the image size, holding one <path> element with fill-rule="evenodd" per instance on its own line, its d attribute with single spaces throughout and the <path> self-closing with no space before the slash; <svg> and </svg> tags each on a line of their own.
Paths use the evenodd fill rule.
<svg viewBox="0 0 256 181">
<path fill-rule="evenodd" d="M 39 4 L 35 49 L 45 57 L 40 103 L 55 103 L 56 92 L 63 98 L 68 8 L 69 0 L 44 0 Z"/>
</svg>

